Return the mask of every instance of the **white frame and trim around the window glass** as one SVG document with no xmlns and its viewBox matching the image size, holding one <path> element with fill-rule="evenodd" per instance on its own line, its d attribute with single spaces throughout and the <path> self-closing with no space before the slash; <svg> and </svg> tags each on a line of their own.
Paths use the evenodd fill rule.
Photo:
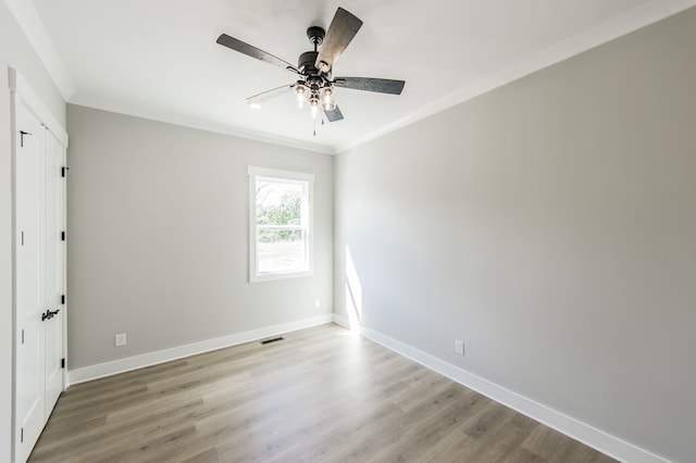
<svg viewBox="0 0 696 463">
<path fill-rule="evenodd" d="M 283 278 L 298 278 L 314 274 L 314 174 L 281 171 L 266 167 L 248 167 L 249 175 L 249 281 L 269 281 Z M 299 272 L 264 272 L 260 273 L 257 227 L 257 182 L 276 180 L 290 184 L 302 184 L 307 187 L 307 224 L 302 224 L 302 235 L 307 241 L 308 268 Z M 302 214 L 304 216 L 304 214 Z"/>
</svg>

